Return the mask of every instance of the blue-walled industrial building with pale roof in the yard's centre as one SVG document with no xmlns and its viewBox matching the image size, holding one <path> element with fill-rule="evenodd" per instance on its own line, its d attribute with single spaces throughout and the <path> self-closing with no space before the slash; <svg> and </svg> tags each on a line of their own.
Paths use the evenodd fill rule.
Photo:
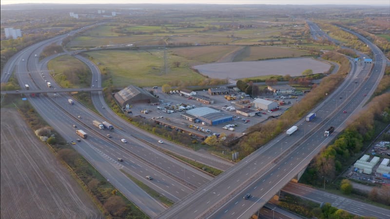
<svg viewBox="0 0 390 219">
<path fill-rule="evenodd" d="M 233 121 L 233 116 L 220 110 L 216 110 L 210 107 L 199 107 L 192 110 L 187 110 L 186 114 L 196 117 L 202 123 L 209 126 L 215 126 L 218 124 Z M 185 114 L 182 114 L 182 116 Z"/>
</svg>

